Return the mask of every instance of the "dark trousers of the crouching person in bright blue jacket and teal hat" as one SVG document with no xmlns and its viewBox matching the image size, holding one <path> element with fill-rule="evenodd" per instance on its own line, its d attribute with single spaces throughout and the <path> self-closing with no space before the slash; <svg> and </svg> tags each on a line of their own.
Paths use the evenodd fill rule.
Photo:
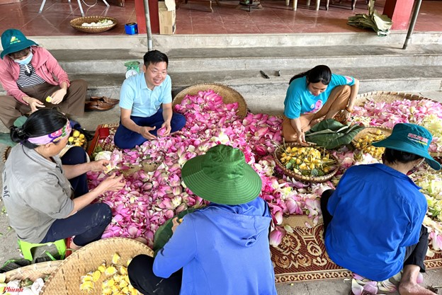
<svg viewBox="0 0 442 295">
<path fill-rule="evenodd" d="M 327 226 L 330 224 L 333 216 L 327 210 L 327 204 L 331 194 L 334 190 L 326 190 L 321 196 L 321 211 L 322 219 L 324 220 L 324 241 L 325 232 L 327 231 Z M 419 241 L 414 245 L 409 245 L 405 248 L 404 266 L 405 265 L 417 265 L 421 267 L 421 272 L 425 272 L 424 260 L 426 256 L 426 249 L 428 248 L 429 233 L 425 226 L 421 226 L 421 231 L 419 233 Z"/>
</svg>

